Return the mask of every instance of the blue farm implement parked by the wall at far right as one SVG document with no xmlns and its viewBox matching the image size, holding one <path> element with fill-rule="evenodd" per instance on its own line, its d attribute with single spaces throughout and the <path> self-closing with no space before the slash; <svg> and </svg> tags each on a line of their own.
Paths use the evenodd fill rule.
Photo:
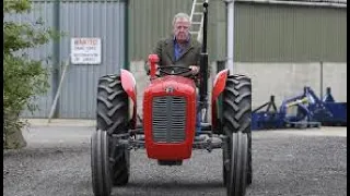
<svg viewBox="0 0 350 196">
<path fill-rule="evenodd" d="M 347 102 L 336 102 L 329 87 L 323 100 L 311 87 L 304 87 L 302 95 L 282 101 L 279 111 L 275 96 L 252 111 L 252 130 L 306 128 L 320 125 L 347 125 Z"/>
</svg>

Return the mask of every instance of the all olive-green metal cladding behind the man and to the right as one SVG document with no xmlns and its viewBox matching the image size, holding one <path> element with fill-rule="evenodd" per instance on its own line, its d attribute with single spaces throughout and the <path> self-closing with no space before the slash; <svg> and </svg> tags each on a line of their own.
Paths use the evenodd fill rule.
<svg viewBox="0 0 350 196">
<path fill-rule="evenodd" d="M 190 13 L 191 0 L 129 0 L 129 60 L 147 60 L 172 32 L 173 16 Z M 235 61 L 346 62 L 347 9 L 236 2 Z M 226 10 L 211 0 L 209 60 L 226 57 Z"/>
</svg>

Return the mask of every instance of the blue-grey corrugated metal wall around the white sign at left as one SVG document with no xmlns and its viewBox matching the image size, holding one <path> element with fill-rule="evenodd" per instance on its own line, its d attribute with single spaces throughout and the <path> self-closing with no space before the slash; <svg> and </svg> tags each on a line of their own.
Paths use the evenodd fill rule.
<svg viewBox="0 0 350 196">
<path fill-rule="evenodd" d="M 46 26 L 52 27 L 57 20 L 54 3 L 52 0 L 36 0 L 33 1 L 33 11 L 30 14 L 11 17 L 15 21 L 34 22 L 42 16 Z M 119 73 L 119 69 L 126 64 L 125 11 L 124 0 L 62 0 L 59 3 L 59 26 L 65 36 L 59 41 L 58 52 L 55 53 L 52 44 L 37 50 L 30 50 L 31 58 L 54 53 L 59 56 L 59 66 L 62 71 L 63 63 L 69 61 L 71 37 L 98 37 L 102 40 L 102 64 L 70 64 L 67 70 L 59 98 L 59 118 L 95 118 L 98 77 Z M 51 61 L 49 64 L 52 66 Z M 49 89 L 48 94 L 40 97 L 38 101 L 40 111 L 33 115 L 24 112 L 23 117 L 47 118 L 52 97 Z"/>
</svg>

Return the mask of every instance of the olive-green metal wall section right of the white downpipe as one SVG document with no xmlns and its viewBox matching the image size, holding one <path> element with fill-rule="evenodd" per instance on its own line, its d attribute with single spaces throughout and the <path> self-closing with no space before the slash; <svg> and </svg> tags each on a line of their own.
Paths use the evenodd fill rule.
<svg viewBox="0 0 350 196">
<path fill-rule="evenodd" d="M 235 61 L 347 61 L 347 9 L 237 3 L 235 13 Z"/>
</svg>

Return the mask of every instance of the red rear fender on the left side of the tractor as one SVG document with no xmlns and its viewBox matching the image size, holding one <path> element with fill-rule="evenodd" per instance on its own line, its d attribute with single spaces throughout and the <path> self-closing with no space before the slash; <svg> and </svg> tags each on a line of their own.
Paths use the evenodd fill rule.
<svg viewBox="0 0 350 196">
<path fill-rule="evenodd" d="M 136 115 L 137 115 L 137 88 L 133 75 L 124 69 L 120 69 L 121 86 L 122 89 L 128 94 L 129 98 L 132 100 L 132 118 L 131 118 L 131 128 L 136 128 Z M 130 106 L 130 102 L 129 102 Z M 129 110 L 130 111 L 130 110 Z"/>
</svg>

